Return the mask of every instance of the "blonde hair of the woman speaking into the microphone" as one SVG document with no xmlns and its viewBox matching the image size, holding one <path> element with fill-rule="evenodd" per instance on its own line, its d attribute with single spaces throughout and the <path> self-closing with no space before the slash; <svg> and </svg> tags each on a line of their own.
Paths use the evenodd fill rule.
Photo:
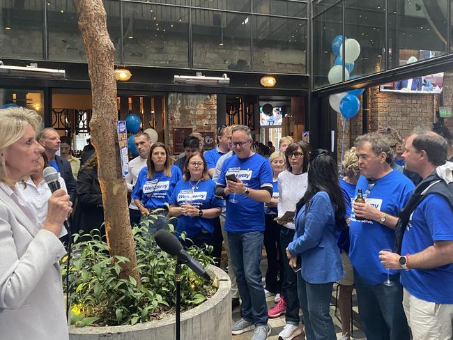
<svg viewBox="0 0 453 340">
<path fill-rule="evenodd" d="M 25 107 L 8 107 L 0 109 L 0 182 L 14 184 L 6 178 L 6 164 L 3 151 L 15 144 L 24 135 L 26 125 L 30 124 L 33 130 L 38 131 L 41 117 L 31 109 Z"/>
</svg>

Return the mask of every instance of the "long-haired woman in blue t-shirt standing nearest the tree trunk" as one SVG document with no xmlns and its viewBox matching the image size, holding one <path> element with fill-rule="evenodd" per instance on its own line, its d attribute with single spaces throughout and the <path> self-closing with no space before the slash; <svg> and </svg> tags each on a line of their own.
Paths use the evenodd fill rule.
<svg viewBox="0 0 453 340">
<path fill-rule="evenodd" d="M 134 199 L 137 208 L 141 212 L 141 218 L 146 218 L 153 210 L 163 209 L 159 212 L 157 222 L 152 219 L 150 224 L 150 233 L 167 226 L 167 206 L 165 203 L 170 201 L 174 187 L 183 177 L 181 170 L 171 165 L 171 159 L 167 146 L 162 143 L 155 143 L 151 146 L 146 167 L 141 169 L 134 190 L 132 199 Z"/>
</svg>

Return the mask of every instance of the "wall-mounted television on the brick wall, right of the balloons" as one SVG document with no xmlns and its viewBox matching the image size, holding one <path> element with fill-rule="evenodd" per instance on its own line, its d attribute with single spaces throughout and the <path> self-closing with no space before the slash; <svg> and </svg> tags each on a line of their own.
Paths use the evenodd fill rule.
<svg viewBox="0 0 453 340">
<path fill-rule="evenodd" d="M 404 79 L 379 86 L 381 92 L 436 94 L 443 90 L 443 72 Z"/>
</svg>

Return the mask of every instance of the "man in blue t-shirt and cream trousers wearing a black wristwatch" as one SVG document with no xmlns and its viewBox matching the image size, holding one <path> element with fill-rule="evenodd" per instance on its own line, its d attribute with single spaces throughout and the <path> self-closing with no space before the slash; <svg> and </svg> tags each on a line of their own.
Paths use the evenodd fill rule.
<svg viewBox="0 0 453 340">
<path fill-rule="evenodd" d="M 416 130 L 406 140 L 406 167 L 430 185 L 409 217 L 401 254 L 381 252 L 387 268 L 401 270 L 404 311 L 414 340 L 452 339 L 453 320 L 453 163 L 447 143 L 435 132 Z M 440 180 L 439 180 L 440 179 Z M 450 184 L 448 184 L 450 183 Z"/>
</svg>

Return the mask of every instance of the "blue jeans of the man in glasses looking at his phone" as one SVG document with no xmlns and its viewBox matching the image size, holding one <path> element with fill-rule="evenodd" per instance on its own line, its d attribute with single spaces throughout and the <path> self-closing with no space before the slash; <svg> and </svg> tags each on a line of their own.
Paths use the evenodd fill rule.
<svg viewBox="0 0 453 340">
<path fill-rule="evenodd" d="M 268 305 L 261 279 L 261 247 L 264 233 L 230 233 L 227 231 L 231 263 L 241 300 L 240 311 L 255 326 L 268 324 Z"/>
</svg>

